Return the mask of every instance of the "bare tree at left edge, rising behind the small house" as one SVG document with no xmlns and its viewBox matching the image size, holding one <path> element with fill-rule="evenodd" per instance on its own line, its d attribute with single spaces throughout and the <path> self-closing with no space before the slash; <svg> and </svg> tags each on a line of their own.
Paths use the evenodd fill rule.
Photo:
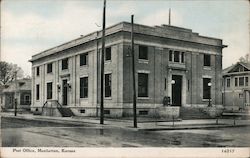
<svg viewBox="0 0 250 158">
<path fill-rule="evenodd" d="M 15 79 L 15 72 L 17 72 L 18 79 L 23 77 L 24 72 L 17 64 L 0 61 L 0 85 L 6 85 L 13 81 Z"/>
</svg>

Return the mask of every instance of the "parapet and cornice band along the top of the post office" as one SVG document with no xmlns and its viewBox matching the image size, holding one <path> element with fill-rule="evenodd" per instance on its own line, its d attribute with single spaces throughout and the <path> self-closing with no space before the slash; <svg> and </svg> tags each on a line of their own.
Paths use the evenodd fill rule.
<svg viewBox="0 0 250 158">
<path fill-rule="evenodd" d="M 105 35 L 111 35 L 119 31 L 131 32 L 131 23 L 129 22 L 120 22 L 118 24 L 112 25 L 106 28 Z M 186 42 L 195 42 L 204 45 L 216 46 L 216 47 L 226 47 L 222 44 L 222 40 L 213 37 L 205 37 L 201 36 L 196 32 L 192 32 L 191 29 L 170 26 L 170 25 L 161 25 L 161 26 L 146 26 L 141 24 L 134 24 L 134 33 L 147 34 L 152 36 L 170 38 L 175 40 L 182 40 Z M 61 52 L 63 50 L 73 48 L 75 46 L 96 40 L 101 39 L 102 33 L 101 31 L 95 31 L 93 33 L 87 34 L 85 36 L 80 36 L 77 39 L 71 40 L 59 46 L 50 48 L 43 52 L 37 53 L 32 56 L 30 62 L 38 60 L 40 58 L 55 54 L 57 52 Z"/>
</svg>

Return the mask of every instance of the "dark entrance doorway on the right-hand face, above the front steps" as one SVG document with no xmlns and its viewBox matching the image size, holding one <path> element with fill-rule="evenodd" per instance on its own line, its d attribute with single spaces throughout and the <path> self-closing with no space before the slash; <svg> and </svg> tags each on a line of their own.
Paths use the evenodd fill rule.
<svg viewBox="0 0 250 158">
<path fill-rule="evenodd" d="M 182 94 L 182 76 L 172 75 L 172 105 L 181 106 L 181 94 Z"/>
</svg>

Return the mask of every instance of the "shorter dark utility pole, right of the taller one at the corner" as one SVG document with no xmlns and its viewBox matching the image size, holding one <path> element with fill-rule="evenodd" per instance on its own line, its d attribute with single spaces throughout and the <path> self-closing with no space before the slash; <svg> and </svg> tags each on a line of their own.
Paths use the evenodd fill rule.
<svg viewBox="0 0 250 158">
<path fill-rule="evenodd" d="M 135 88 L 135 55 L 134 55 L 134 15 L 131 15 L 131 55 L 132 55 L 132 75 L 133 75 L 133 112 L 134 112 L 134 128 L 137 128 L 136 118 L 136 88 Z"/>
</svg>

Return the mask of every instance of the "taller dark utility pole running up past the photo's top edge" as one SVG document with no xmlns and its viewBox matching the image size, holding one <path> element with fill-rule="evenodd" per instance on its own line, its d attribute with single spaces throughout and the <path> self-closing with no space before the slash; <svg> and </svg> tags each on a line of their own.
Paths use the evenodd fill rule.
<svg viewBox="0 0 250 158">
<path fill-rule="evenodd" d="M 103 95 L 103 80 L 104 80 L 104 53 L 105 53 L 105 20 L 106 20 L 106 0 L 103 3 L 103 23 L 102 23 L 102 55 L 101 55 L 101 104 L 100 104 L 100 124 L 104 124 L 104 95 Z"/>
</svg>

